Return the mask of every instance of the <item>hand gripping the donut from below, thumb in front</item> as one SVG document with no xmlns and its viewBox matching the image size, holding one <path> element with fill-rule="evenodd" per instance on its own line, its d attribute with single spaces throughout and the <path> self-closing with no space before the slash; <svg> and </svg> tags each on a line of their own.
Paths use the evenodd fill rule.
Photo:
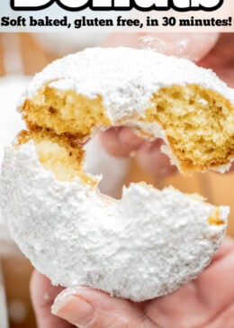
<svg viewBox="0 0 234 328">
<path fill-rule="evenodd" d="M 88 287 L 61 292 L 61 287 L 52 287 L 36 271 L 31 297 L 39 328 L 71 328 L 73 324 L 84 328 L 233 328 L 232 272 L 234 241 L 226 239 L 199 278 L 153 300 L 132 303 Z"/>
</svg>

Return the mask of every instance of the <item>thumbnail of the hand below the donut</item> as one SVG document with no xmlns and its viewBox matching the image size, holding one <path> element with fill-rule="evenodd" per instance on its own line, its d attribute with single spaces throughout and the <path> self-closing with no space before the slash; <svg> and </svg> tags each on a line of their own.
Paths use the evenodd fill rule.
<svg viewBox="0 0 234 328">
<path fill-rule="evenodd" d="M 85 326 L 94 317 L 94 307 L 82 297 L 61 293 L 51 307 L 51 313 L 77 326 Z"/>
</svg>

